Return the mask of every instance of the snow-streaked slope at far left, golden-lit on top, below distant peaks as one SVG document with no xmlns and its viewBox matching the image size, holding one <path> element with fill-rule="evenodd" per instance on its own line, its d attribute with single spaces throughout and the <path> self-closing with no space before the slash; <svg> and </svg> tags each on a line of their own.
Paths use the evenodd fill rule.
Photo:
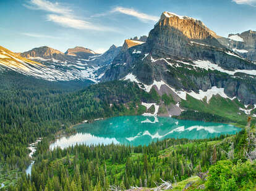
<svg viewBox="0 0 256 191">
<path fill-rule="evenodd" d="M 7 49 L 0 49 L 1 71 L 13 70 L 27 76 L 45 79 L 48 81 L 70 81 L 75 79 L 89 79 L 95 83 L 99 81 L 96 70 L 99 67 L 88 67 L 86 62 L 62 62 L 56 59 L 43 59 L 41 57 L 30 58 L 39 62 L 46 62 L 45 65 L 35 62 Z M 95 59 L 95 58 L 93 58 Z"/>
</svg>

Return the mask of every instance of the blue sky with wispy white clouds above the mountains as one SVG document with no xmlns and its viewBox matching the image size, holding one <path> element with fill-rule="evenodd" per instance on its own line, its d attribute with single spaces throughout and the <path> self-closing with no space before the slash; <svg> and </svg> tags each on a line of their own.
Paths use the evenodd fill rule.
<svg viewBox="0 0 256 191">
<path fill-rule="evenodd" d="M 148 35 L 164 11 L 202 20 L 220 36 L 256 30 L 256 0 L 0 0 L 0 46 L 103 53 Z"/>
</svg>

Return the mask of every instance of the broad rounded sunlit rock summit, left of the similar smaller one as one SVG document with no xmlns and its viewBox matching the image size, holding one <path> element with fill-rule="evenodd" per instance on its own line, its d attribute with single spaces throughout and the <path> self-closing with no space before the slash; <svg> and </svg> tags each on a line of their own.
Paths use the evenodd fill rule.
<svg viewBox="0 0 256 191">
<path fill-rule="evenodd" d="M 40 57 L 42 59 L 56 59 L 64 61 L 66 57 L 63 52 L 53 49 L 48 46 L 36 47 L 30 51 L 20 53 L 20 56 L 27 59 Z"/>
</svg>

